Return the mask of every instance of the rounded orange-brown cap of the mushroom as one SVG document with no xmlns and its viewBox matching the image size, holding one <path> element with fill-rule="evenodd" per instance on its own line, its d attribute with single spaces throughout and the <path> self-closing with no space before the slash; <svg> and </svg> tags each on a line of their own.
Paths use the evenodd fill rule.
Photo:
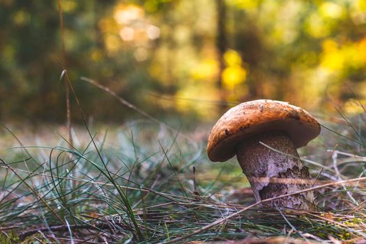
<svg viewBox="0 0 366 244">
<path fill-rule="evenodd" d="M 229 109 L 208 137 L 208 158 L 224 162 L 236 155 L 236 146 L 262 132 L 282 130 L 296 148 L 305 146 L 320 132 L 313 116 L 300 107 L 275 100 L 253 100 Z"/>
</svg>

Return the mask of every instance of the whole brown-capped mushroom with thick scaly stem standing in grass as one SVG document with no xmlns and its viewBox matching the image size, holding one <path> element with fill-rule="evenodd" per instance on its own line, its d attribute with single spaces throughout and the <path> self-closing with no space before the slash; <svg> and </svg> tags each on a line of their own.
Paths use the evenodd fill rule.
<svg viewBox="0 0 366 244">
<path fill-rule="evenodd" d="M 275 100 L 243 102 L 229 109 L 208 137 L 208 158 L 224 162 L 236 155 L 256 201 L 310 188 L 310 174 L 296 148 L 320 132 L 300 107 Z M 266 201 L 268 207 L 314 209 L 311 191 Z"/>
</svg>

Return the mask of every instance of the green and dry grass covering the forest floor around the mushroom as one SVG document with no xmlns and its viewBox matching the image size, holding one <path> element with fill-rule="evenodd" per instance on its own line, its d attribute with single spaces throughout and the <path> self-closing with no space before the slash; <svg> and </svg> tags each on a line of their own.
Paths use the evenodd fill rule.
<svg viewBox="0 0 366 244">
<path fill-rule="evenodd" d="M 323 128 L 301 153 L 319 175 L 314 187 L 328 183 L 315 190 L 318 212 L 251 206 L 235 160 L 209 162 L 205 142 L 151 121 L 91 130 L 93 142 L 79 128 L 73 146 L 56 132 L 47 144 L 42 137 L 25 144 L 24 135 L 4 129 L 0 243 L 365 239 L 365 179 L 347 181 L 365 176 L 365 131 L 355 121 L 353 128 L 328 123 L 342 135 Z"/>
</svg>

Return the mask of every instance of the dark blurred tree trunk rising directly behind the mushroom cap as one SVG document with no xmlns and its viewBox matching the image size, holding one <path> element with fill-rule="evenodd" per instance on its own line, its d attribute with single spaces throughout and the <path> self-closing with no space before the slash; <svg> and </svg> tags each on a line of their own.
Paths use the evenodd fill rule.
<svg viewBox="0 0 366 244">
<path fill-rule="evenodd" d="M 218 52 L 219 61 L 219 73 L 218 73 L 218 88 L 220 89 L 220 100 L 226 101 L 225 93 L 222 90 L 222 73 L 224 72 L 224 53 L 227 50 L 227 32 L 226 32 L 226 13 L 227 8 L 224 0 L 216 0 L 216 13 L 217 13 L 217 24 L 216 24 L 216 49 Z M 226 109 L 223 106 L 222 109 Z"/>
</svg>

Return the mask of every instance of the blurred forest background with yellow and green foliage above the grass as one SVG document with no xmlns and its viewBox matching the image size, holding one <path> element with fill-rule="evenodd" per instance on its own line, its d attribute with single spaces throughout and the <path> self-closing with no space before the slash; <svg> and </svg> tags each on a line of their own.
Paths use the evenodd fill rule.
<svg viewBox="0 0 366 244">
<path fill-rule="evenodd" d="M 155 116 L 202 121 L 257 98 L 346 112 L 360 109 L 353 92 L 366 98 L 365 0 L 62 0 L 61 7 L 63 31 L 56 0 L 0 0 L 0 121 L 64 123 L 60 63 L 98 121 L 136 113 L 81 77 Z"/>
</svg>

